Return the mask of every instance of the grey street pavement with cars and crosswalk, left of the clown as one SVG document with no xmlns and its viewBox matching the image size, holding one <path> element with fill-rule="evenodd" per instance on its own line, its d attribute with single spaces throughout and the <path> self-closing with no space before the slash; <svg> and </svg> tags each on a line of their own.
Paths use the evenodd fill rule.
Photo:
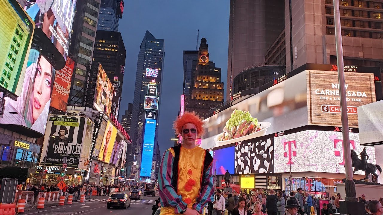
<svg viewBox="0 0 383 215">
<path fill-rule="evenodd" d="M 120 193 L 127 193 L 130 195 L 131 191 L 125 191 Z M 48 204 L 45 203 L 44 209 L 30 209 L 26 208 L 25 215 L 151 215 L 152 205 L 154 205 L 155 199 L 158 199 L 158 192 L 155 197 L 143 196 L 142 200 L 131 200 L 129 208 L 106 208 L 106 202 L 109 196 L 92 196 L 92 199 L 85 199 L 85 203 L 80 201 L 74 201 L 73 205 L 58 206 L 58 203 Z"/>
</svg>

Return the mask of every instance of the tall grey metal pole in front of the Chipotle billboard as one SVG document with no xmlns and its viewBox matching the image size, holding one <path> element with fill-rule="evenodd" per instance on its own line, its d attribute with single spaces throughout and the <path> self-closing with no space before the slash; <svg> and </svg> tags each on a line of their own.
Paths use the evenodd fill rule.
<svg viewBox="0 0 383 215">
<path fill-rule="evenodd" d="M 347 103 L 346 103 L 346 89 L 344 81 L 344 63 L 343 63 L 343 45 L 342 45 L 342 31 L 340 29 L 340 13 L 339 13 L 339 0 L 334 2 L 334 20 L 335 20 L 335 42 L 336 42 L 336 56 L 338 64 L 338 80 L 339 80 L 339 97 L 340 97 L 340 114 L 342 117 L 342 135 L 343 135 L 343 156 L 344 168 L 346 172 L 345 200 L 350 202 L 357 202 L 355 192 L 355 182 L 352 173 L 351 162 L 351 147 L 349 137 L 349 119 L 347 118 Z"/>
</svg>

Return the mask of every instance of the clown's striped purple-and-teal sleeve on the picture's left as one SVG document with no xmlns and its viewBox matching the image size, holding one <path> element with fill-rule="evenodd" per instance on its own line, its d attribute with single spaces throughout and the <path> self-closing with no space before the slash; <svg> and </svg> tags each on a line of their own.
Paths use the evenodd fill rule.
<svg viewBox="0 0 383 215">
<path fill-rule="evenodd" d="M 168 149 L 167 151 L 165 151 L 160 165 L 160 173 L 158 178 L 158 193 L 160 195 L 161 205 L 163 207 L 173 207 L 174 212 L 177 214 L 182 212 L 182 210 L 184 210 L 187 207 L 187 204 L 182 201 L 182 196 L 178 195 L 174 187 L 172 186 L 173 161 L 174 152 L 172 149 Z"/>
</svg>

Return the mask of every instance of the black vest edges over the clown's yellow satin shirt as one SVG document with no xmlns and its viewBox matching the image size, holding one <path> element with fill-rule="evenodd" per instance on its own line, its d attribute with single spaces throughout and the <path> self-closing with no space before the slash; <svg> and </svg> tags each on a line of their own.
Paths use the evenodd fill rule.
<svg viewBox="0 0 383 215">
<path fill-rule="evenodd" d="M 174 187 L 175 192 L 178 191 L 178 161 L 180 160 L 180 150 L 181 150 L 181 144 L 177 145 L 175 147 L 172 147 L 174 150 L 174 161 L 172 166 L 173 176 L 172 176 L 172 186 Z M 206 150 L 205 153 L 205 159 L 203 161 L 203 171 L 202 171 L 202 177 L 205 175 L 206 171 L 208 171 L 208 168 L 213 163 L 213 157 L 210 155 L 209 151 Z M 205 186 L 205 181 L 202 180 L 201 188 Z M 201 189 L 200 189 L 201 192 Z"/>
</svg>

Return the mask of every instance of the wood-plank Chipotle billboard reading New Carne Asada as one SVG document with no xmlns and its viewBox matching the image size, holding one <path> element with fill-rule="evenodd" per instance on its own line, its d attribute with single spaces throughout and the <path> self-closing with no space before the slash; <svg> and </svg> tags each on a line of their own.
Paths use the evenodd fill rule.
<svg viewBox="0 0 383 215">
<path fill-rule="evenodd" d="M 373 73 L 346 72 L 347 112 L 350 127 L 358 127 L 357 107 L 376 101 Z M 338 73 L 307 70 L 308 117 L 312 125 L 342 126 Z"/>
</svg>

